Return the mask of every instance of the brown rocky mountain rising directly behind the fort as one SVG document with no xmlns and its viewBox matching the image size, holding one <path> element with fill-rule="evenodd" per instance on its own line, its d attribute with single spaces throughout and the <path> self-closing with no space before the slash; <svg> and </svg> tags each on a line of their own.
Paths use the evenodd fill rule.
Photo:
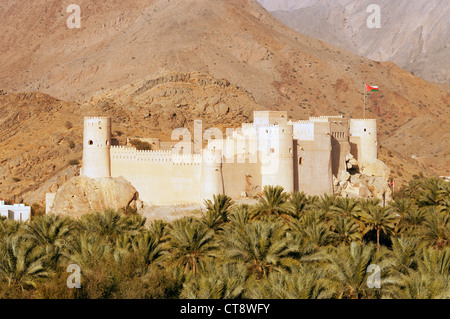
<svg viewBox="0 0 450 319">
<path fill-rule="evenodd" d="M 74 176 L 87 115 L 112 116 L 121 143 L 257 109 L 360 118 L 364 83 L 380 87 L 367 116 L 394 177 L 450 175 L 448 85 L 302 35 L 256 0 L 80 0 L 81 29 L 69 4 L 0 3 L 1 198 L 42 201 Z"/>
</svg>

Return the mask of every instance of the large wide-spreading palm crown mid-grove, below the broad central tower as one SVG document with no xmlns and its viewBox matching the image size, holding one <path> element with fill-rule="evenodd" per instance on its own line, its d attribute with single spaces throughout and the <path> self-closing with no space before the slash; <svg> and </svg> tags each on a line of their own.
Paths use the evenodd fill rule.
<svg viewBox="0 0 450 319">
<path fill-rule="evenodd" d="M 223 238 L 225 256 L 244 262 L 257 278 L 295 263 L 292 254 L 298 251 L 298 247 L 280 222 L 257 221 L 243 229 L 227 229 Z"/>
</svg>

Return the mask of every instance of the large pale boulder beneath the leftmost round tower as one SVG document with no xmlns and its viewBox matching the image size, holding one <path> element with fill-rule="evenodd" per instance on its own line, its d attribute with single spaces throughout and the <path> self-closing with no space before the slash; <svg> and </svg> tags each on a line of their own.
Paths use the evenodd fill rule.
<svg viewBox="0 0 450 319">
<path fill-rule="evenodd" d="M 48 213 L 79 218 L 105 209 L 136 209 L 140 204 L 139 193 L 123 178 L 76 176 L 57 191 Z"/>
</svg>

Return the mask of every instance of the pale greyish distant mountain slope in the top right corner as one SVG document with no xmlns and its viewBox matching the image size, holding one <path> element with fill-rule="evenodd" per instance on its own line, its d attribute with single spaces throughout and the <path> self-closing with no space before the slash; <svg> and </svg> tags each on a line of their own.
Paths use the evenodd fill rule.
<svg viewBox="0 0 450 319">
<path fill-rule="evenodd" d="M 381 28 L 369 29 L 371 0 L 261 0 L 286 25 L 357 55 L 392 61 L 429 81 L 450 83 L 450 2 L 381 0 Z"/>
</svg>

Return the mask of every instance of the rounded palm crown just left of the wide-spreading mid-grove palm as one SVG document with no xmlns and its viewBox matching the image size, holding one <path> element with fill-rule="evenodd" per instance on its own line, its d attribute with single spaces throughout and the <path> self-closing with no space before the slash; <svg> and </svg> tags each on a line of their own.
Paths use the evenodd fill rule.
<svg viewBox="0 0 450 319">
<path fill-rule="evenodd" d="M 181 266 L 195 275 L 209 257 L 216 255 L 214 231 L 193 218 L 182 218 L 169 226 L 167 249 L 169 264 Z"/>
</svg>

